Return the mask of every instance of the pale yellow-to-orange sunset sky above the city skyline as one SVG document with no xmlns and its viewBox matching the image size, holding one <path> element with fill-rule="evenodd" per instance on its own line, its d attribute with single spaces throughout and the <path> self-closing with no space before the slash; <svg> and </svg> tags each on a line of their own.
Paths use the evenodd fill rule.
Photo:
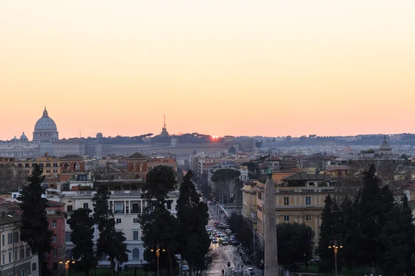
<svg viewBox="0 0 415 276">
<path fill-rule="evenodd" d="M 415 132 L 415 1 L 0 1 L 0 139 Z"/>
</svg>

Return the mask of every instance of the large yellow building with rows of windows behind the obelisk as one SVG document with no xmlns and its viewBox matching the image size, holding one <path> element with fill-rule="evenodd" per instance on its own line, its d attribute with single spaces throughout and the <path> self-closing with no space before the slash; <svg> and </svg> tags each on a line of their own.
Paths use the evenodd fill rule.
<svg viewBox="0 0 415 276">
<path fill-rule="evenodd" d="M 315 246 L 320 235 L 321 213 L 324 209 L 324 199 L 327 195 L 335 194 L 333 179 L 329 175 L 308 175 L 299 172 L 285 177 L 282 186 L 275 187 L 275 214 L 277 224 L 297 222 L 310 226 L 315 233 Z M 264 187 L 259 181 L 245 185 L 243 192 L 244 217 L 252 217 L 256 209 L 257 235 L 259 242 L 264 244 Z M 255 197 L 255 198 L 252 198 Z"/>
</svg>

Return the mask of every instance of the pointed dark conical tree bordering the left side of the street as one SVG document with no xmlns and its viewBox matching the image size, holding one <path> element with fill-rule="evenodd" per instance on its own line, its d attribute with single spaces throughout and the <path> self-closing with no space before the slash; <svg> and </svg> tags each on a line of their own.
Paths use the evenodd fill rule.
<svg viewBox="0 0 415 276">
<path fill-rule="evenodd" d="M 210 238 L 205 230 L 209 213 L 208 206 L 201 201 L 192 183 L 192 171 L 183 177 L 176 210 L 181 227 L 179 252 L 191 270 L 203 270 L 206 268 L 205 256 L 210 247 Z"/>
</svg>

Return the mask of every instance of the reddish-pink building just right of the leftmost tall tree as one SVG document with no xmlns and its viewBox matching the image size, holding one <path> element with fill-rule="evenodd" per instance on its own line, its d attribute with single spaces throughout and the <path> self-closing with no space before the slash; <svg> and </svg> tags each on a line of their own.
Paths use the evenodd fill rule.
<svg viewBox="0 0 415 276">
<path fill-rule="evenodd" d="M 48 200 L 48 207 L 46 208 L 49 229 L 53 230 L 52 245 L 53 249 L 46 255 L 46 268 L 57 275 L 64 269 L 60 261 L 63 263 L 66 260 L 65 250 L 65 204 L 57 201 Z"/>
</svg>

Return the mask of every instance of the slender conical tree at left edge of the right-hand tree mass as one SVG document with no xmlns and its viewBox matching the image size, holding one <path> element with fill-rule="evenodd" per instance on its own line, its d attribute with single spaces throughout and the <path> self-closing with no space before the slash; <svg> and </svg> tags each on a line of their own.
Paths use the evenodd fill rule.
<svg viewBox="0 0 415 276">
<path fill-rule="evenodd" d="M 315 253 L 320 257 L 320 271 L 331 271 L 333 266 L 333 250 L 329 248 L 330 241 L 333 240 L 333 200 L 330 195 L 324 200 L 324 209 L 322 212 L 322 224 L 320 226 L 320 238 Z"/>
</svg>

